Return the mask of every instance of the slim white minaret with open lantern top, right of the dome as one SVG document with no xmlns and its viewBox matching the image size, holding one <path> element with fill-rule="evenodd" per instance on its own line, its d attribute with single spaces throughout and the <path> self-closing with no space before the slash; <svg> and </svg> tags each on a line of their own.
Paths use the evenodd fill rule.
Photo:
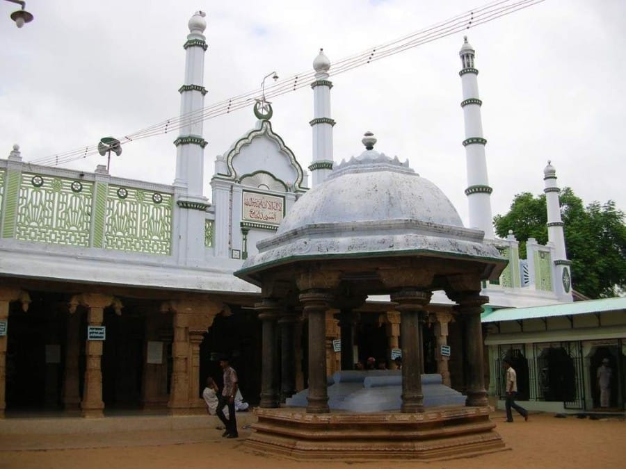
<svg viewBox="0 0 626 469">
<path fill-rule="evenodd" d="M 474 68 L 474 49 L 467 42 L 461 47 L 458 55 L 461 59 L 461 70 L 458 74 L 463 84 L 463 120 L 465 121 L 465 159 L 467 161 L 467 202 L 470 206 L 470 228 L 478 228 L 485 232 L 485 239 L 493 239 L 493 219 L 491 216 L 491 192 L 487 176 L 487 160 L 481 120 L 481 104 L 478 93 L 478 70 Z"/>
</svg>

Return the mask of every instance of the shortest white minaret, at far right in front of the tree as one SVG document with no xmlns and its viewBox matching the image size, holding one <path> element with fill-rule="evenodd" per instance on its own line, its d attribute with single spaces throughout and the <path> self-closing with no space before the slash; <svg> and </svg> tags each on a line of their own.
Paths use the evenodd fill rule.
<svg viewBox="0 0 626 469">
<path fill-rule="evenodd" d="M 548 161 L 543 170 L 545 182 L 545 204 L 547 206 L 548 242 L 554 246 L 554 288 L 559 299 L 572 301 L 572 274 L 571 262 L 565 253 L 565 236 L 563 234 L 563 220 L 561 220 L 561 202 L 559 201 L 559 186 L 556 186 L 556 170 Z"/>
</svg>

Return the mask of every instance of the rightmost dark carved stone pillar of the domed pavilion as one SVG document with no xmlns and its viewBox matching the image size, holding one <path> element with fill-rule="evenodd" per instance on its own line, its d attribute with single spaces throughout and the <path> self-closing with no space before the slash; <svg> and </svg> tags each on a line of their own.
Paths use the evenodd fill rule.
<svg viewBox="0 0 626 469">
<path fill-rule="evenodd" d="M 465 319 L 465 356 L 467 357 L 467 406 L 487 406 L 487 391 L 483 373 L 483 331 L 481 328 L 482 305 L 489 297 L 479 292 L 465 293 L 455 297 L 456 311 Z"/>
</svg>

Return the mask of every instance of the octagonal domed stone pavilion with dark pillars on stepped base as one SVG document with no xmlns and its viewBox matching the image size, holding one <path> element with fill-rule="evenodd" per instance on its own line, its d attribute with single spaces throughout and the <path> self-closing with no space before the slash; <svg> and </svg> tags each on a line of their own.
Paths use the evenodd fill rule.
<svg viewBox="0 0 626 469">
<path fill-rule="evenodd" d="M 483 383 L 481 281 L 497 279 L 506 261 L 483 231 L 466 229 L 447 197 L 407 163 L 374 150 L 342 162 L 300 198 L 275 236 L 236 272 L 262 288 L 262 395 L 255 434 L 246 445 L 293 457 L 444 458 L 504 447 L 490 421 Z M 424 408 L 422 334 L 434 290 L 456 302 L 465 324 L 465 406 Z M 325 315 L 390 295 L 401 315 L 401 409 L 332 411 L 328 404 Z M 299 311 L 308 321 L 306 409 L 279 408 L 277 324 Z M 282 360 L 289 356 L 283 354 Z"/>
</svg>

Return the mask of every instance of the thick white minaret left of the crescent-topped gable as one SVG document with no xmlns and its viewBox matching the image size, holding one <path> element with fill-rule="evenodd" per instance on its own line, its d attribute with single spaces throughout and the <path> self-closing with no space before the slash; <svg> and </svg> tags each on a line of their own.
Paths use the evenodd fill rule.
<svg viewBox="0 0 626 469">
<path fill-rule="evenodd" d="M 176 178 L 174 180 L 175 200 L 174 236 L 179 240 L 177 256 L 184 265 L 200 265 L 204 261 L 204 223 L 209 202 L 202 195 L 204 180 L 204 147 L 207 141 L 202 138 L 202 119 L 192 114 L 204 108 L 204 52 L 207 42 L 204 29 L 206 14 L 197 11 L 189 19 L 189 34 L 184 44 L 186 51 L 185 81 L 179 88 L 180 115 L 184 124 L 180 129 L 176 145 Z"/>
</svg>

